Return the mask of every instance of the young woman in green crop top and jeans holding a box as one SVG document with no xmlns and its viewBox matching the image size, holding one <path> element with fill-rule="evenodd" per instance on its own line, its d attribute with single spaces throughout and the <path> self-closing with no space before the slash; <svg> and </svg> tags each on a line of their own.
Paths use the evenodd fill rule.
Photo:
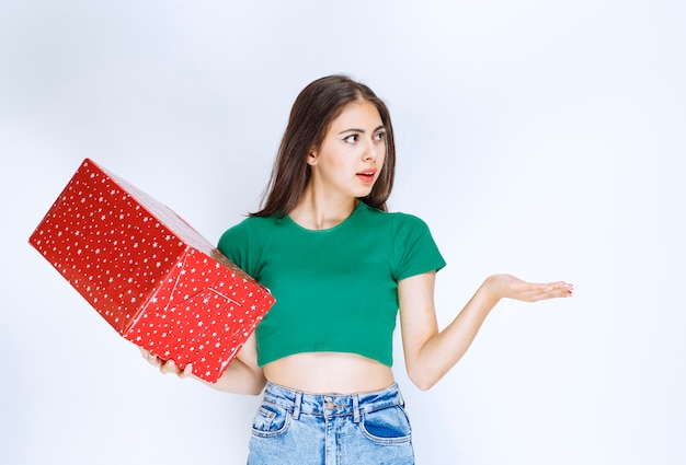
<svg viewBox="0 0 686 465">
<path fill-rule="evenodd" d="M 249 464 L 412 464 L 391 371 L 398 313 L 408 374 L 428 390 L 462 357 L 504 298 L 570 297 L 565 282 L 485 279 L 438 330 L 428 228 L 386 209 L 396 148 L 388 108 L 364 84 L 319 79 L 298 95 L 263 208 L 218 248 L 276 304 L 214 387 L 264 400 Z M 163 373 L 192 374 L 144 352 Z"/>
</svg>

